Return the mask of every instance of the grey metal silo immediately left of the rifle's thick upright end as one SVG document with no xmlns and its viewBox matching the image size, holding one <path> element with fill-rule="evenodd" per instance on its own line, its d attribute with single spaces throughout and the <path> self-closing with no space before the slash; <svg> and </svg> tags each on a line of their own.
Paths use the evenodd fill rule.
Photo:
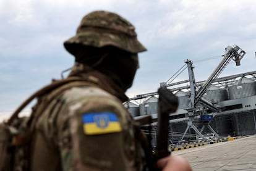
<svg viewBox="0 0 256 171">
<path fill-rule="evenodd" d="M 144 101 L 139 106 L 140 115 L 157 114 L 158 111 L 158 98 L 152 96 L 151 98 Z"/>
</svg>

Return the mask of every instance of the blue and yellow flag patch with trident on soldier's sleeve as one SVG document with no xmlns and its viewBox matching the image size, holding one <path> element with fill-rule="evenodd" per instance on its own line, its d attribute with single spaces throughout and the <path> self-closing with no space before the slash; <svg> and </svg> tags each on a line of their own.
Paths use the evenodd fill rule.
<svg viewBox="0 0 256 171">
<path fill-rule="evenodd" d="M 117 115 L 111 112 L 83 114 L 83 132 L 86 135 L 116 133 L 122 130 Z"/>
</svg>

